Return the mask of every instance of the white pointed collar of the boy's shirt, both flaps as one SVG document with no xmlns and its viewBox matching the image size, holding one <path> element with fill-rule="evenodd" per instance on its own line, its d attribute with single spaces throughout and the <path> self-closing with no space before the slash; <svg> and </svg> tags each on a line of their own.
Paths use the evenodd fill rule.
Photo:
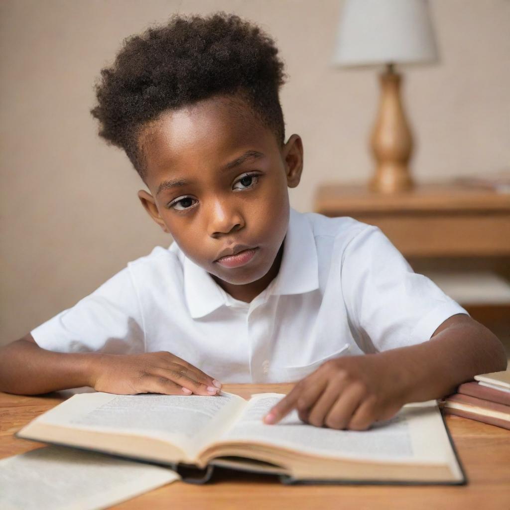
<svg viewBox="0 0 510 510">
<path fill-rule="evenodd" d="M 319 287 L 317 248 L 310 220 L 290 209 L 282 263 L 268 295 L 301 294 Z M 184 257 L 184 293 L 194 319 L 227 304 L 225 291 L 203 268 Z"/>
</svg>

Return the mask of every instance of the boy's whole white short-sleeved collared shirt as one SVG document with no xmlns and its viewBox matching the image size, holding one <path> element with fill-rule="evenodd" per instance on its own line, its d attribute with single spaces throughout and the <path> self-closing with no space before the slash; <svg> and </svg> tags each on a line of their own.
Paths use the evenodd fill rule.
<svg viewBox="0 0 510 510">
<path fill-rule="evenodd" d="M 336 356 L 424 342 L 458 313 L 379 228 L 291 209 L 279 273 L 250 303 L 173 243 L 31 334 L 54 351 L 167 350 L 223 383 L 284 382 Z"/>
</svg>

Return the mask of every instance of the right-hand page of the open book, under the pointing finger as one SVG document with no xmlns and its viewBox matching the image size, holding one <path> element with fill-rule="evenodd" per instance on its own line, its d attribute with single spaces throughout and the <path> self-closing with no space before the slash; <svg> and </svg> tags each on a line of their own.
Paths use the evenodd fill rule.
<svg viewBox="0 0 510 510">
<path fill-rule="evenodd" d="M 446 462 L 451 452 L 435 401 L 408 404 L 392 419 L 363 431 L 315 427 L 302 422 L 295 410 L 276 425 L 265 424 L 263 417 L 283 397 L 252 396 L 221 441 L 256 441 L 320 456 L 393 462 Z"/>
</svg>

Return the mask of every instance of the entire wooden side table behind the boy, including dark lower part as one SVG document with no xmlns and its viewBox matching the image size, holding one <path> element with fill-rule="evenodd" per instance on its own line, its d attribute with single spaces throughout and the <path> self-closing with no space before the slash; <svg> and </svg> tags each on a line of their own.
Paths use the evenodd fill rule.
<svg viewBox="0 0 510 510">
<path fill-rule="evenodd" d="M 492 271 L 510 285 L 510 194 L 452 183 L 418 184 L 393 195 L 365 184 L 324 184 L 315 211 L 378 226 L 419 273 Z M 461 304 L 506 344 L 510 303 Z"/>
</svg>

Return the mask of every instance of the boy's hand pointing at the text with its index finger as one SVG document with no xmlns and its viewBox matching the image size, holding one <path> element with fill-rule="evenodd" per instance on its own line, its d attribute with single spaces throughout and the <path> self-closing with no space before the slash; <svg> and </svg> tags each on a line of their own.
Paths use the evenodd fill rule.
<svg viewBox="0 0 510 510">
<path fill-rule="evenodd" d="M 329 360 L 297 382 L 264 422 L 277 423 L 297 409 L 302 421 L 318 427 L 366 430 L 406 403 L 402 369 L 379 354 Z"/>
</svg>

